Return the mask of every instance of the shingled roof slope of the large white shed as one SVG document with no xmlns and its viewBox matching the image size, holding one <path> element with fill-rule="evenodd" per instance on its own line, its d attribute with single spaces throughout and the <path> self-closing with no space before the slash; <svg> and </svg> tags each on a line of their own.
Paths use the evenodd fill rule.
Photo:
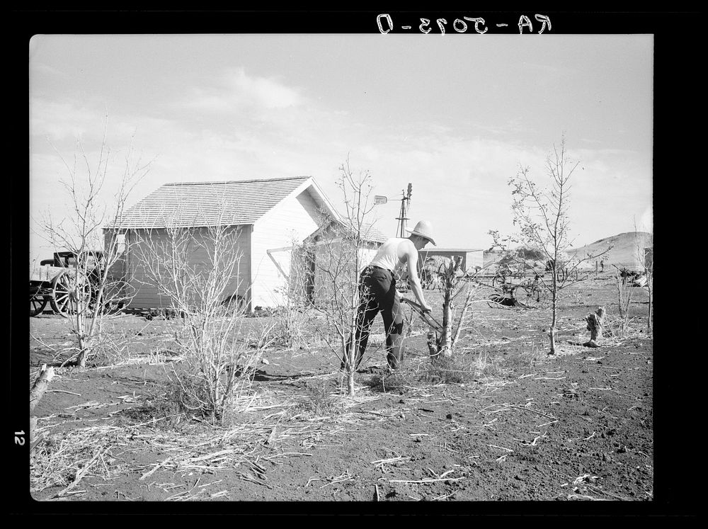
<svg viewBox="0 0 708 529">
<path fill-rule="evenodd" d="M 253 224 L 309 178 L 166 183 L 130 207 L 121 227 Z"/>
</svg>

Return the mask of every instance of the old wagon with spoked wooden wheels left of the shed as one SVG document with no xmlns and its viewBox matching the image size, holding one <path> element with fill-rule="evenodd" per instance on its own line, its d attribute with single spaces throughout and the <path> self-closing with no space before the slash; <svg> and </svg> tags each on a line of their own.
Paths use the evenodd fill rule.
<svg viewBox="0 0 708 529">
<path fill-rule="evenodd" d="M 76 314 L 81 301 L 93 309 L 105 273 L 103 251 L 86 251 L 79 258 L 73 251 L 57 251 L 30 270 L 30 317 L 52 310 L 67 317 Z M 115 312 L 125 305 L 125 283 L 111 280 L 104 290 L 103 311 Z"/>
</svg>

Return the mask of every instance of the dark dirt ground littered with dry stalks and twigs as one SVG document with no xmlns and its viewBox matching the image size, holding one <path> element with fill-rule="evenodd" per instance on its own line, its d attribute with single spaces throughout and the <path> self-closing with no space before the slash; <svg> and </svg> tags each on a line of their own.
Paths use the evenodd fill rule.
<svg viewBox="0 0 708 529">
<path fill-rule="evenodd" d="M 40 365 L 57 365 L 34 411 L 34 506 L 186 501 L 210 502 L 212 512 L 302 513 L 327 502 L 316 512 L 365 513 L 405 502 L 392 509 L 411 513 L 411 502 L 424 501 L 486 513 L 512 501 L 506 513 L 571 509 L 559 502 L 639 511 L 654 501 L 646 290 L 634 292 L 624 336 L 611 275 L 565 292 L 557 355 L 547 355 L 549 309 L 480 302 L 450 372 L 431 368 L 413 316 L 405 366 L 387 375 L 375 328 L 350 398 L 340 392 L 338 361 L 305 339 L 268 351 L 251 393 L 239 396 L 242 411 L 224 426 L 168 413 L 166 383 L 180 362 L 164 319 L 121 315 L 111 330 L 130 337 L 122 357 L 78 370 L 58 367 L 61 355 L 48 348 L 70 345 L 62 317 L 31 318 L 30 384 Z M 426 293 L 440 307 L 439 295 Z M 614 336 L 583 347 L 585 317 L 598 306 Z"/>
</svg>

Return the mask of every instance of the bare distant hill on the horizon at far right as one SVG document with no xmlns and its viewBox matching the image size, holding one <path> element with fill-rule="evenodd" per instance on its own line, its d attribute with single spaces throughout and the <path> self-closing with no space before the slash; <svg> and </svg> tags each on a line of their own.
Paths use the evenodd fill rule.
<svg viewBox="0 0 708 529">
<path fill-rule="evenodd" d="M 647 232 L 627 232 L 600 239 L 580 248 L 567 251 L 571 256 L 584 258 L 588 254 L 599 254 L 612 246 L 607 254 L 583 263 L 583 268 L 595 268 L 595 261 L 605 261 L 605 271 L 617 268 L 629 268 L 632 271 L 644 270 L 644 249 L 653 246 L 653 237 Z"/>
</svg>

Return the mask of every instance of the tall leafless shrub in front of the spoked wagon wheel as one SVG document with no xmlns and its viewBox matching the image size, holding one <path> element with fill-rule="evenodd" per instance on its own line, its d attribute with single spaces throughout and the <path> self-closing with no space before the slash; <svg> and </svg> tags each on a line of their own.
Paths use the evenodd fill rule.
<svg viewBox="0 0 708 529">
<path fill-rule="evenodd" d="M 59 157 L 68 176 L 61 181 L 69 198 L 68 213 L 58 222 L 46 215 L 42 237 L 57 251 L 73 254 L 67 256 L 66 271 L 55 277 L 52 308 L 66 316 L 75 341 L 74 352 L 64 363 L 73 362 L 83 368 L 89 358 L 120 348 L 115 334 L 106 334 L 104 326 L 134 294 L 123 271 L 123 214 L 130 192 L 147 174 L 150 164 L 144 164 L 139 157 L 136 160 L 132 146 L 127 149 L 118 190 L 105 203 L 105 183 L 115 171 L 105 129 L 95 159 L 86 152 L 80 137 L 73 161 L 67 161 L 62 154 Z"/>
</svg>

